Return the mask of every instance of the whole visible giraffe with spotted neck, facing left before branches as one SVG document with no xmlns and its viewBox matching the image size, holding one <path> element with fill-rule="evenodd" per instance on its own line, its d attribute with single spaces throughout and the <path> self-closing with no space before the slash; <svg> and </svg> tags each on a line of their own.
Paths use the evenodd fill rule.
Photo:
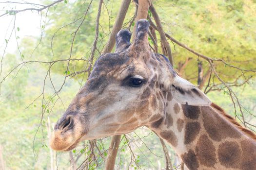
<svg viewBox="0 0 256 170">
<path fill-rule="evenodd" d="M 82 140 L 146 126 L 167 141 L 190 170 L 256 170 L 256 135 L 239 125 L 168 59 L 148 45 L 149 22 L 136 38 L 121 30 L 115 53 L 99 57 L 86 84 L 55 125 L 50 146 L 70 151 Z"/>
</svg>

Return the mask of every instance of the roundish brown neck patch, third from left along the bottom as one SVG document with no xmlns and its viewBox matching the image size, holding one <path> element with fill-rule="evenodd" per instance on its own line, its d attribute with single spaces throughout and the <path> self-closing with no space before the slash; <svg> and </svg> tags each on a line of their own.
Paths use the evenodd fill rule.
<svg viewBox="0 0 256 170">
<path fill-rule="evenodd" d="M 218 146 L 218 160 L 226 168 L 238 168 L 241 155 L 236 142 L 224 142 Z"/>
</svg>

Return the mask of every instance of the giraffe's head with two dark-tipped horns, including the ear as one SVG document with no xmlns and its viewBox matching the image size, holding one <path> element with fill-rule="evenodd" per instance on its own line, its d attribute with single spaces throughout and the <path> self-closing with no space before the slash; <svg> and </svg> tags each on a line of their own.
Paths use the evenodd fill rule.
<svg viewBox="0 0 256 170">
<path fill-rule="evenodd" d="M 51 147 L 68 151 L 81 140 L 126 134 L 165 114 L 165 97 L 190 105 L 210 100 L 175 73 L 168 59 L 150 51 L 149 22 L 137 22 L 136 38 L 121 30 L 115 53 L 99 57 L 86 84 L 55 125 Z"/>
</svg>

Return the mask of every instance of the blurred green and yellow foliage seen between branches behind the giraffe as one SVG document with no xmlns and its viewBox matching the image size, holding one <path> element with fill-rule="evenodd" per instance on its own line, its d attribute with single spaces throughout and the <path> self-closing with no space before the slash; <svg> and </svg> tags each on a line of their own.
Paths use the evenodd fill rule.
<svg viewBox="0 0 256 170">
<path fill-rule="evenodd" d="M 48 4 L 51 1 L 44 2 Z M 24 61 L 53 61 L 70 57 L 71 42 L 74 35 L 72 33 L 78 28 L 90 1 L 76 0 L 66 2 L 61 2 L 55 7 L 51 7 L 47 14 L 47 19 L 42 19 L 46 23 L 45 28 L 43 27 L 42 38 L 38 36 L 19 39 L 20 51 L 24 56 Z M 100 32 L 95 60 L 109 37 L 120 3 L 121 1 L 119 0 L 104 1 L 99 21 Z M 180 42 L 202 54 L 212 58 L 221 58 L 234 66 L 245 69 L 256 68 L 255 1 L 154 0 L 153 3 L 157 8 L 164 30 Z M 135 6 L 131 4 L 124 23 L 129 22 L 134 15 L 134 11 Z M 97 12 L 98 1 L 93 1 L 86 19 L 76 35 L 71 58 L 89 58 L 95 37 Z M 124 24 L 125 27 L 127 25 Z M 160 39 L 159 35 L 158 39 Z M 159 40 L 158 43 L 160 46 Z M 170 45 L 173 50 L 175 68 L 178 68 L 178 63 L 184 63 L 186 58 L 193 57 L 185 68 L 183 77 L 196 84 L 197 61 L 201 59 L 177 45 L 174 46 L 171 42 Z M 21 63 L 18 49 L 14 54 L 7 53 L 3 62 L 3 75 L 6 75 Z M 66 66 L 67 62 L 63 61 L 55 63 L 51 68 L 51 78 L 56 89 L 59 89 L 64 81 Z M 87 66 L 88 63 L 84 61 L 71 62 L 68 73 L 84 70 Z M 203 61 L 205 72 L 208 67 L 208 63 Z M 226 82 L 233 82 L 241 75 L 241 72 L 237 69 L 225 66 L 220 62 L 215 62 L 215 67 L 221 78 Z M 27 64 L 19 72 L 16 70 L 7 77 L 1 86 L 0 145 L 3 149 L 2 154 L 7 170 L 48 170 L 51 169 L 51 164 L 49 163 L 51 160 L 54 161 L 54 165 L 58 165 L 58 169 L 69 169 L 69 153 L 58 153 L 57 160 L 55 159 L 56 153 L 52 153 L 54 157 L 51 159 L 51 151 L 48 147 L 48 135 L 50 132 L 47 127 L 49 129 L 53 128 L 53 124 L 62 115 L 81 85 L 86 81 L 87 74 L 81 73 L 72 78 L 68 77 L 59 93 L 61 100 L 57 96 L 50 100 L 55 91 L 49 78 L 46 79 L 45 86 L 43 86 L 48 68 L 48 64 Z M 253 74 L 252 72 L 245 72 L 244 74 L 246 78 L 255 77 L 255 73 Z M 0 78 L 2 79 L 3 77 Z M 214 81 L 216 84 L 218 83 L 216 77 L 214 77 Z M 244 81 L 244 78 L 240 76 L 237 83 L 242 84 Z M 211 100 L 222 106 L 232 116 L 235 116 L 233 103 L 229 95 L 224 92 L 226 90 L 225 87 L 218 85 L 214 89 L 208 94 Z M 42 95 L 40 95 L 42 90 L 44 90 L 45 101 L 42 101 Z M 243 111 L 246 120 L 256 124 L 255 116 L 250 114 L 256 112 L 255 78 L 250 80 L 249 84 L 233 87 L 233 90 L 244 107 Z M 36 101 L 33 102 L 34 100 Z M 49 105 L 47 101 L 50 101 Z M 44 108 L 45 112 L 42 115 Z M 48 115 L 50 115 L 49 119 Z M 41 116 L 42 122 L 40 123 Z M 241 119 L 239 112 L 237 112 L 237 118 Z M 42 126 L 39 126 L 40 124 Z M 142 138 L 144 143 L 136 134 Z M 136 167 L 133 162 L 132 166 L 135 167 L 132 169 L 155 170 L 164 168 L 165 158 L 157 136 L 146 127 L 143 127 L 136 130 L 136 133 L 131 133 L 128 137 L 129 141 L 134 141 L 131 146 L 135 153 L 136 162 L 139 165 Z M 109 137 L 103 139 L 102 143 L 104 144 L 97 141 L 98 146 L 101 147 L 100 149 L 108 148 L 109 139 Z M 85 142 L 85 146 L 87 145 L 88 143 Z M 33 147 L 35 148 L 33 149 Z M 82 150 L 82 148 L 82 146 L 79 146 L 73 151 L 74 155 L 84 152 L 77 165 L 89 154 L 87 152 L 88 147 L 85 150 Z M 172 153 L 173 163 L 175 163 L 175 153 L 169 146 L 168 148 Z M 100 158 L 99 164 L 102 161 L 102 158 Z M 116 162 L 117 169 L 127 169 L 129 163 L 129 147 L 123 137 Z M 104 165 L 99 165 L 97 169 L 103 169 L 103 167 Z M 57 168 L 56 165 L 55 168 Z M 93 170 L 94 165 L 90 169 Z"/>
</svg>

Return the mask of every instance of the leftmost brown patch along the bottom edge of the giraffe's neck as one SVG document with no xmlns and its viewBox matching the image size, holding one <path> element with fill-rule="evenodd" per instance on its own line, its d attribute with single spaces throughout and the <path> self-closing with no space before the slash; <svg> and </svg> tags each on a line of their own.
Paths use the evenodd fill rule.
<svg viewBox="0 0 256 170">
<path fill-rule="evenodd" d="M 181 155 L 181 158 L 189 170 L 197 170 L 199 167 L 196 154 L 189 150 L 187 153 Z"/>
</svg>

